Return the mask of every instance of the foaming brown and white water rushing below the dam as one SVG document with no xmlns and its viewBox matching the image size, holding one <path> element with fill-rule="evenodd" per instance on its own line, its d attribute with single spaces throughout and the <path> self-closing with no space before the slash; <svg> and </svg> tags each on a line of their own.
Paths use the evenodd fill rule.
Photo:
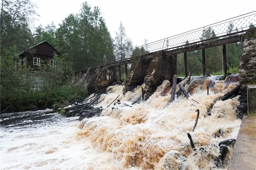
<svg viewBox="0 0 256 170">
<path fill-rule="evenodd" d="M 206 84 L 212 84 L 209 95 Z M 0 115 L 0 169 L 225 169 L 231 149 L 223 167 L 217 168 L 214 159 L 219 156 L 219 142 L 237 137 L 238 97 L 217 101 L 211 116 L 207 110 L 237 84 L 236 76 L 225 81 L 197 79 L 185 86 L 191 94 L 188 100 L 181 94 L 167 107 L 169 81 L 147 101 L 141 100 L 140 86 L 125 95 L 123 86 L 110 86 L 95 105 L 104 108 L 102 116 L 82 123 L 78 117 L 40 111 Z M 118 95 L 120 103 L 108 107 Z M 132 105 L 135 100 L 139 102 Z M 200 115 L 192 132 L 196 109 Z"/>
</svg>

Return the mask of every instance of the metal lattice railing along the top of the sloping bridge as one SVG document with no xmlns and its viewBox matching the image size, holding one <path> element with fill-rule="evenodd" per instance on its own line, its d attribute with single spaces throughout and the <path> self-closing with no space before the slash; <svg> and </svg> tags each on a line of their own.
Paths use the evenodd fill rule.
<svg viewBox="0 0 256 170">
<path fill-rule="evenodd" d="M 83 70 L 88 69 L 89 67 L 93 68 L 158 50 L 173 49 L 185 46 L 186 44 L 202 42 L 210 38 L 226 38 L 228 35 L 241 34 L 241 32 L 245 32 L 255 26 L 256 11 L 253 11 L 218 23 L 184 32 L 182 34 L 151 42 L 143 46 L 135 47 L 133 49 L 123 51 L 122 53 L 113 54 L 112 56 L 105 57 L 105 59 L 102 59 L 101 61 L 87 64 Z"/>
</svg>

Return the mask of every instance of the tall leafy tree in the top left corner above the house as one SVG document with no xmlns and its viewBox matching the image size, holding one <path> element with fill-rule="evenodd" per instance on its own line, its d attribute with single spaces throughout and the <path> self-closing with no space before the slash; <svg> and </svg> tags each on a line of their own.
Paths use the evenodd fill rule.
<svg viewBox="0 0 256 170">
<path fill-rule="evenodd" d="M 37 16 L 37 6 L 30 0 L 2 0 L 0 6 L 0 53 L 13 45 L 18 51 L 34 45 L 30 25 Z"/>
</svg>

